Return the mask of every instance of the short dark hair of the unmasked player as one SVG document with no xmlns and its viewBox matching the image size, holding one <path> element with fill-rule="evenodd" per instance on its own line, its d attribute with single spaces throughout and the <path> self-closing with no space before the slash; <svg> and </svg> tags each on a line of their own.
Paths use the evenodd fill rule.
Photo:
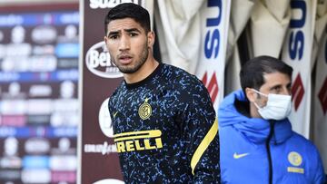
<svg viewBox="0 0 327 184">
<path fill-rule="evenodd" d="M 124 3 L 114 6 L 109 10 L 108 14 L 104 18 L 104 34 L 108 32 L 107 25 L 116 19 L 132 18 L 138 24 L 144 28 L 145 34 L 150 32 L 150 15 L 149 12 L 141 5 L 133 3 Z"/>
</svg>

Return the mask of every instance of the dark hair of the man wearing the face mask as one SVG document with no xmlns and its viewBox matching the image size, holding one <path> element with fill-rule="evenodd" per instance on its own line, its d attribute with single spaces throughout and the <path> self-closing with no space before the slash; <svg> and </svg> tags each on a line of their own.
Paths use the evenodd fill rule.
<svg viewBox="0 0 327 184">
<path fill-rule="evenodd" d="M 271 56 L 254 57 L 244 63 L 240 72 L 241 86 L 244 94 L 246 88 L 254 88 L 259 91 L 265 82 L 263 75 L 267 73 L 283 73 L 291 79 L 292 67 Z"/>
</svg>

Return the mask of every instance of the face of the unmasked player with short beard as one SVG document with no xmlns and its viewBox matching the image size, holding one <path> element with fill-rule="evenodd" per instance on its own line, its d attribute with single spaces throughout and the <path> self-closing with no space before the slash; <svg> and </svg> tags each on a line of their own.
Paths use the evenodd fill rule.
<svg viewBox="0 0 327 184">
<path fill-rule="evenodd" d="M 108 25 L 104 41 L 111 61 L 122 73 L 135 73 L 146 62 L 149 54 L 149 36 L 132 18 L 117 19 Z"/>
</svg>

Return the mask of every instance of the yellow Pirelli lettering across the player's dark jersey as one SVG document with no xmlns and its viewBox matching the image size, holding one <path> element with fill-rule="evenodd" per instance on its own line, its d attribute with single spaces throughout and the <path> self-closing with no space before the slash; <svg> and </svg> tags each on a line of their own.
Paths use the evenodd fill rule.
<svg viewBox="0 0 327 184">
<path fill-rule="evenodd" d="M 114 135 L 114 143 L 117 152 L 161 149 L 163 148 L 161 135 L 162 132 L 159 130 L 124 132 Z"/>
</svg>

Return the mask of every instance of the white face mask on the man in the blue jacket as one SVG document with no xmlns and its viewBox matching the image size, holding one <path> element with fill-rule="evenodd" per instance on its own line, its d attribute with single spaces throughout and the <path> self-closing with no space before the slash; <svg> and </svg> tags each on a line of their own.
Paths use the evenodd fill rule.
<svg viewBox="0 0 327 184">
<path fill-rule="evenodd" d="M 292 111 L 291 95 L 272 93 L 269 93 L 267 95 L 256 90 L 253 90 L 253 92 L 256 92 L 268 98 L 268 102 L 264 107 L 260 107 L 256 102 L 254 102 L 254 105 L 258 108 L 258 112 L 264 120 L 280 121 L 290 115 Z"/>
</svg>

